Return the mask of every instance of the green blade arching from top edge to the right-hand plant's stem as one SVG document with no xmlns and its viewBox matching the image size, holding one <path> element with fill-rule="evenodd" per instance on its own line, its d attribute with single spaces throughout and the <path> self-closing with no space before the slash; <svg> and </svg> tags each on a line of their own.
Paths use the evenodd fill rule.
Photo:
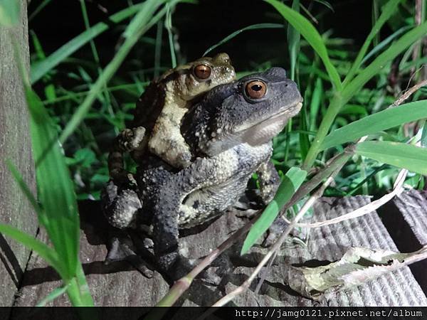
<svg viewBox="0 0 427 320">
<path fill-rule="evenodd" d="M 327 54 L 327 48 L 323 42 L 322 36 L 317 32 L 314 26 L 301 14 L 293 11 L 290 7 L 285 6 L 277 0 L 265 0 L 275 7 L 275 9 L 288 21 L 292 27 L 301 33 L 301 35 L 310 43 L 310 46 L 316 51 L 327 70 L 332 85 L 336 90 L 341 90 L 342 83 L 339 78 L 337 69 L 332 65 L 332 62 Z"/>
</svg>

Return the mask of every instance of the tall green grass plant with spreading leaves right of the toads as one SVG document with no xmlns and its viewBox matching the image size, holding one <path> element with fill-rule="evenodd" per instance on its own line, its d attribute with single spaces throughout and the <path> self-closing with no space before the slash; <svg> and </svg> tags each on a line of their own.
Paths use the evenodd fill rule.
<svg viewBox="0 0 427 320">
<path fill-rule="evenodd" d="M 292 27 L 301 33 L 305 40 L 307 40 L 312 49 L 315 50 L 317 55 L 319 55 L 320 59 L 322 60 L 322 63 L 324 64 L 325 69 L 329 75 L 329 80 L 332 82 L 334 87 L 333 95 L 330 98 L 330 106 L 327 108 L 325 116 L 323 117 L 320 127 L 317 131 L 316 137 L 308 151 L 305 151 L 307 149 L 307 144 L 309 143 L 307 142 L 308 136 L 307 134 L 305 134 L 305 136 L 301 135 L 301 152 L 303 156 L 306 155 L 302 169 L 310 169 L 310 167 L 315 163 L 317 154 L 319 154 L 322 149 L 327 149 L 330 146 L 334 146 L 343 142 L 352 141 L 353 139 L 357 139 L 358 137 L 362 137 L 366 134 L 372 134 L 383 129 L 389 129 L 404 122 L 426 117 L 426 112 L 423 112 L 426 108 L 423 107 L 422 102 L 419 102 L 418 105 L 416 105 L 418 106 L 418 113 L 416 112 L 417 110 L 412 112 L 413 109 L 416 109 L 416 107 L 413 107 L 413 105 L 410 105 L 409 107 L 404 106 L 404 108 L 400 110 L 399 108 L 394 110 L 385 110 L 382 113 L 373 114 L 370 117 L 359 120 L 358 122 L 353 122 L 352 124 L 349 124 L 340 130 L 332 132 L 329 139 L 327 139 L 325 142 L 327 132 L 330 132 L 334 119 L 337 117 L 339 110 L 341 110 L 342 107 L 344 107 L 344 105 L 349 102 L 352 97 L 354 97 L 354 95 L 357 95 L 362 87 L 369 80 L 371 80 L 371 78 L 377 75 L 387 63 L 396 58 L 396 56 L 402 53 L 406 48 L 408 48 L 408 46 L 411 46 L 412 43 L 420 39 L 423 34 L 425 35 L 427 33 L 427 22 L 422 23 L 420 26 L 417 26 L 411 31 L 405 33 L 404 36 L 401 36 L 401 38 L 396 41 L 396 43 L 393 43 L 391 46 L 389 46 L 389 48 L 384 50 L 383 53 L 379 54 L 378 57 L 376 57 L 372 63 L 367 66 L 367 68 L 361 69 L 360 67 L 362 60 L 367 53 L 371 41 L 379 32 L 381 26 L 383 26 L 384 23 L 386 23 L 386 21 L 391 17 L 391 15 L 394 14 L 400 2 L 399 0 L 388 1 L 386 5 L 384 5 L 381 15 L 378 19 L 376 19 L 372 31 L 369 33 L 361 50 L 359 50 L 359 54 L 357 55 L 356 60 L 354 60 L 354 63 L 352 63 L 352 66 L 349 69 L 344 82 L 342 83 L 339 73 L 337 72 L 337 68 L 332 65 L 325 43 L 322 41 L 320 34 L 317 33 L 315 28 L 311 25 L 310 21 L 298 14 L 297 11 L 292 11 L 292 9 L 290 9 L 288 6 L 285 6 L 285 4 L 282 4 L 276 0 L 265 1 L 272 4 L 275 9 L 277 9 L 278 12 L 283 16 L 283 18 L 285 18 L 288 23 L 290 23 L 290 25 L 292 25 Z M 290 37 L 288 33 L 288 39 L 289 38 L 292 37 Z M 290 60 L 292 66 L 292 50 L 290 51 Z M 407 113 L 409 109 L 411 110 L 410 114 Z M 406 114 L 404 114 L 405 112 Z M 410 115 L 415 117 L 408 117 Z M 302 132 L 307 131 L 306 117 L 307 115 L 305 110 L 302 110 L 302 124 L 300 124 Z M 374 146 L 378 146 L 379 149 L 375 151 Z M 422 148 L 417 148 L 416 146 L 396 144 L 394 142 L 364 142 L 362 144 L 358 144 L 356 150 L 357 154 L 368 156 L 369 158 L 376 161 L 404 167 L 418 173 L 423 172 L 423 169 L 417 169 L 417 166 L 423 164 L 425 150 Z M 407 151 L 408 154 L 392 157 L 392 155 L 398 151 Z M 288 153 L 286 151 L 285 161 L 287 159 L 287 154 Z M 420 156 L 421 158 L 416 161 L 416 156 Z M 364 176 L 363 169 L 362 176 Z M 280 193 L 280 191 L 278 191 L 278 193 Z M 271 223 L 273 220 L 269 222 Z M 251 231 L 253 233 L 256 233 L 257 231 L 260 232 L 261 230 L 264 232 L 267 228 L 267 224 L 262 225 L 262 228 L 260 225 L 254 225 L 252 228 L 253 230 Z M 248 241 L 248 238 L 246 238 L 246 241 Z"/>
</svg>

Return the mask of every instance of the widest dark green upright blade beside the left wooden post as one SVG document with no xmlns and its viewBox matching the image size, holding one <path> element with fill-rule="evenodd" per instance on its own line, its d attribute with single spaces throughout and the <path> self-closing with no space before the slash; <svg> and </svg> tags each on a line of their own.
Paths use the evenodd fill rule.
<svg viewBox="0 0 427 320">
<path fill-rule="evenodd" d="M 38 96 L 29 87 L 26 87 L 26 97 L 31 114 L 33 152 L 36 159 L 41 159 L 49 142 L 57 139 L 56 128 Z M 80 220 L 73 182 L 58 143 L 48 149 L 43 161 L 39 161 L 36 177 L 45 228 L 66 267 L 65 275 L 72 277 L 78 264 Z"/>
</svg>

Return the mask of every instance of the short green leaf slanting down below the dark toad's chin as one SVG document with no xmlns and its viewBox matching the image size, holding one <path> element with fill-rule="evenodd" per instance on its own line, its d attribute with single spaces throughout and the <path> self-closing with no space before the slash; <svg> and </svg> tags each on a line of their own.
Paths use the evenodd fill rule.
<svg viewBox="0 0 427 320">
<path fill-rule="evenodd" d="M 285 176 L 283 176 L 283 181 L 280 183 L 278 192 L 275 194 L 273 200 L 268 204 L 267 208 L 265 208 L 260 218 L 253 224 L 251 230 L 249 230 L 245 242 L 243 242 L 241 255 L 248 252 L 256 240 L 258 240 L 258 238 L 270 227 L 278 216 L 280 208 L 282 208 L 285 203 L 290 200 L 295 191 L 300 188 L 306 176 L 307 172 L 297 167 L 290 168 Z"/>
</svg>

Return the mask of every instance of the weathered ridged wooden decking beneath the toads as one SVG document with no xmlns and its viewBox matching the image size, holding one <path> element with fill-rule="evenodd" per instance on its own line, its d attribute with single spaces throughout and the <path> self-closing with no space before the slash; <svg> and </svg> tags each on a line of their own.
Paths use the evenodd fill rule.
<svg viewBox="0 0 427 320">
<path fill-rule="evenodd" d="M 315 206 L 315 217 L 319 220 L 333 218 L 344 212 L 369 203 L 368 197 L 344 199 L 324 198 Z M 96 203 L 93 203 L 96 206 Z M 97 306 L 152 306 L 168 286 L 157 272 L 147 279 L 132 270 L 126 263 L 102 265 L 105 257 L 106 225 L 97 218 L 97 208 L 82 208 L 82 261 L 88 282 Z M 183 247 L 188 249 L 189 257 L 201 257 L 208 254 L 225 240 L 230 233 L 243 225 L 244 220 L 228 213 L 218 218 L 201 233 L 181 238 Z M 393 241 L 376 213 L 323 228 L 313 229 L 308 247 L 289 242 L 280 250 L 278 257 L 268 270 L 265 282 L 259 294 L 255 286 L 237 297 L 234 303 L 239 306 L 409 306 L 426 305 L 427 299 L 416 284 L 411 272 L 404 268 L 384 277 L 371 281 L 358 288 L 330 294 L 320 303 L 299 297 L 287 285 L 290 264 L 307 260 L 337 260 L 351 245 L 364 245 L 371 248 L 396 250 Z M 253 267 L 262 259 L 267 249 L 256 245 L 248 255 L 238 257 L 241 243 L 231 247 L 226 257 L 235 266 L 226 278 L 225 292 L 240 285 Z M 58 287 L 60 282 L 51 270 L 37 257 L 32 257 L 28 272 L 23 279 L 23 287 L 16 300 L 17 306 L 31 306 Z M 180 300 L 179 305 L 209 306 L 223 296 L 223 292 L 202 281 L 196 281 Z M 66 297 L 60 297 L 50 305 L 68 305 Z"/>
</svg>

